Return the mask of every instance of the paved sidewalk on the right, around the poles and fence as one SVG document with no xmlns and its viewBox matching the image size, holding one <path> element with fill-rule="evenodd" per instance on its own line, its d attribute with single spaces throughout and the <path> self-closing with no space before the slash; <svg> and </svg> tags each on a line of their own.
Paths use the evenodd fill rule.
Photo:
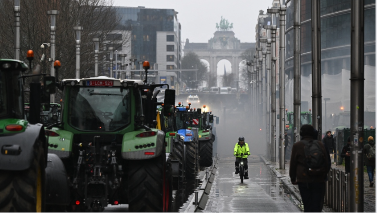
<svg viewBox="0 0 377 213">
<path fill-rule="evenodd" d="M 297 185 L 291 184 L 291 179 L 289 178 L 289 161 L 285 163 L 285 169 L 279 169 L 279 162 L 271 162 L 267 160 L 266 157 L 261 157 L 267 166 L 270 166 L 273 172 L 278 178 L 280 178 L 281 183 L 285 188 L 290 191 L 296 199 L 301 201 L 300 191 Z M 345 170 L 343 165 L 331 164 L 331 167 Z M 332 209 L 324 206 L 322 212 L 329 213 L 334 212 Z M 376 212 L 376 171 L 375 171 L 375 185 L 369 187 L 368 174 L 364 172 L 364 212 Z"/>
</svg>

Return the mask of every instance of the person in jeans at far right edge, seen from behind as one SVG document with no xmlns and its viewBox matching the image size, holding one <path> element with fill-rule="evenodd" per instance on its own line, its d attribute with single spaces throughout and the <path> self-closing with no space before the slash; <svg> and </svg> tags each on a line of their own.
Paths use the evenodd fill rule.
<svg viewBox="0 0 377 213">
<path fill-rule="evenodd" d="M 368 143 L 364 145 L 363 153 L 364 164 L 367 166 L 369 177 L 369 187 L 373 187 L 373 176 L 376 169 L 376 144 L 372 136 L 368 138 Z"/>
</svg>

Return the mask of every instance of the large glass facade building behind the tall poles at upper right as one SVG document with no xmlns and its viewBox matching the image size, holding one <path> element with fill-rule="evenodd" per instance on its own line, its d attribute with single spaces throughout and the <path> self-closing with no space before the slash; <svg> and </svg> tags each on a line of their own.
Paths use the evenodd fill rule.
<svg viewBox="0 0 377 213">
<path fill-rule="evenodd" d="M 376 0 L 364 0 L 365 65 L 376 66 Z M 285 73 L 293 79 L 293 0 L 287 0 Z M 322 74 L 351 70 L 351 0 L 321 0 Z M 301 72 L 311 74 L 311 0 L 301 0 Z"/>
</svg>

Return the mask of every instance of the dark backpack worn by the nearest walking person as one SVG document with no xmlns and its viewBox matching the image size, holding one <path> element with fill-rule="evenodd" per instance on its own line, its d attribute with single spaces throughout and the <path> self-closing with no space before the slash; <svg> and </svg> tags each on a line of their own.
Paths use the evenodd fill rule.
<svg viewBox="0 0 377 213">
<path fill-rule="evenodd" d="M 304 166 L 310 176 L 320 176 L 326 174 L 326 155 L 321 149 L 317 140 L 302 141 L 304 146 L 305 160 Z"/>
</svg>

